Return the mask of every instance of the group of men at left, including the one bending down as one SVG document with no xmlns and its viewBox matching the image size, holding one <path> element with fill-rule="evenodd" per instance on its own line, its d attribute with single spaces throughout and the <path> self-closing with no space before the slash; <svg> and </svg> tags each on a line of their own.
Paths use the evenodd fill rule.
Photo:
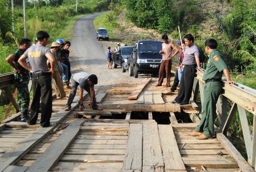
<svg viewBox="0 0 256 172">
<path fill-rule="evenodd" d="M 50 123 L 53 105 L 52 78 L 57 97 L 59 98 L 66 97 L 65 91 L 63 90 L 63 82 L 66 82 L 67 88 L 71 88 L 69 86 L 71 79 L 72 89 L 67 107 L 71 107 L 69 106 L 69 102 L 73 101 L 74 97 L 72 95 L 76 91 L 75 86 L 78 86 L 73 82 L 81 81 L 81 78 L 79 78 L 81 75 L 79 75 L 79 73 L 74 75 L 74 79 L 71 78 L 68 50 L 71 43 L 57 39 L 51 44 L 49 49 L 46 47 L 49 42 L 49 37 L 50 35 L 46 31 L 39 31 L 33 46 L 31 46 L 30 39 L 23 38 L 20 42 L 19 49 L 6 58 L 6 61 L 14 68 L 14 84 L 18 90 L 21 122 L 35 125 L 38 119 L 39 107 L 41 107 L 40 125 L 42 127 L 53 125 Z M 60 72 L 62 70 L 63 74 Z M 32 80 L 33 101 L 30 106 L 30 115 L 28 115 L 30 103 L 28 83 L 30 76 Z M 90 93 L 90 96 L 94 96 L 91 96 L 93 101 L 91 101 L 90 106 L 93 107 L 93 109 L 102 110 L 95 102 L 94 84 L 97 84 L 97 76 L 87 74 L 81 77 L 86 77 L 85 81 L 82 82 L 83 86 L 86 91 Z M 79 84 L 81 85 L 81 83 Z M 87 88 L 90 88 L 90 90 Z"/>
</svg>

